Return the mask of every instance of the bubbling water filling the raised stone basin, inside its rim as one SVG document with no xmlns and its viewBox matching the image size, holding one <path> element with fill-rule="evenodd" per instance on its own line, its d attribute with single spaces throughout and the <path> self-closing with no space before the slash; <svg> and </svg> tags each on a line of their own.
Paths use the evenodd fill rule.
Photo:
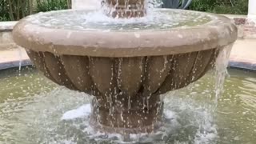
<svg viewBox="0 0 256 144">
<path fill-rule="evenodd" d="M 86 31 L 169 30 L 177 27 L 201 26 L 214 16 L 189 10 L 154 10 L 143 18 L 110 18 L 101 11 L 61 10 L 29 16 L 26 21 L 51 29 Z"/>
</svg>

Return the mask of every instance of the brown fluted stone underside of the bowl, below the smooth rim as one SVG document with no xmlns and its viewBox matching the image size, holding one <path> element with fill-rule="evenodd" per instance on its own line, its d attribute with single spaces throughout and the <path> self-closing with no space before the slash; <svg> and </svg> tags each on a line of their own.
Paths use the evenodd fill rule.
<svg viewBox="0 0 256 144">
<path fill-rule="evenodd" d="M 55 55 L 27 50 L 46 77 L 96 96 L 148 97 L 187 86 L 214 66 L 220 49 L 134 58 Z"/>
</svg>

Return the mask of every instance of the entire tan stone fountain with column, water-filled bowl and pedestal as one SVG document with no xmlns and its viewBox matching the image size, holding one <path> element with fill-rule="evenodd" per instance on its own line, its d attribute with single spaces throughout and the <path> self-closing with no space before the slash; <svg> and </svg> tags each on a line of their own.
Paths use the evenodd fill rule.
<svg viewBox="0 0 256 144">
<path fill-rule="evenodd" d="M 157 130 L 160 95 L 202 78 L 237 38 L 230 19 L 216 14 L 152 12 L 144 0 L 104 5 L 103 20 L 92 10 L 53 11 L 22 19 L 13 34 L 47 78 L 94 95 L 90 124 L 106 133 Z"/>
</svg>

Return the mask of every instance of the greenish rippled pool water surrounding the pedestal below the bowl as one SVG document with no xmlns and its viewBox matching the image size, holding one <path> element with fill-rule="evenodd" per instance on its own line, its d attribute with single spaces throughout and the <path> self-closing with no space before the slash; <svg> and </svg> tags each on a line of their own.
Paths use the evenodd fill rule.
<svg viewBox="0 0 256 144">
<path fill-rule="evenodd" d="M 165 94 L 164 126 L 157 134 L 133 135 L 133 143 L 256 143 L 256 73 L 229 74 L 218 105 L 213 72 Z M 90 99 L 31 67 L 0 70 L 0 143 L 121 143 L 118 134 L 90 129 Z"/>
</svg>

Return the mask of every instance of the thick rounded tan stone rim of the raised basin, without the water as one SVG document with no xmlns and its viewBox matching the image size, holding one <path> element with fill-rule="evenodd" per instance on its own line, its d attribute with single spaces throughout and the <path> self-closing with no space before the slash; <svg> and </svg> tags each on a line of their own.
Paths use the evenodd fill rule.
<svg viewBox="0 0 256 144">
<path fill-rule="evenodd" d="M 102 33 L 46 28 L 27 22 L 26 18 L 18 22 L 13 34 L 14 42 L 34 51 L 115 58 L 190 53 L 226 46 L 237 39 L 237 27 L 229 18 L 217 14 L 209 15 L 214 20 L 202 26 L 172 28 L 166 31 L 138 30 L 136 34 L 139 34 L 139 38 L 134 32 Z M 70 32 L 72 34 L 66 38 Z"/>
</svg>

